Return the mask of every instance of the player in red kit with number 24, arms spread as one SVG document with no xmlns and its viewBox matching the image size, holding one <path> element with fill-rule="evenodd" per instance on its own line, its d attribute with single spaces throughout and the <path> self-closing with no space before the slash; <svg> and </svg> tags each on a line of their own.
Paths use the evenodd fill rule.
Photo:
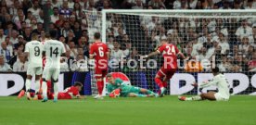
<svg viewBox="0 0 256 125">
<path fill-rule="evenodd" d="M 177 56 L 180 55 L 183 59 L 186 57 L 183 53 L 179 52 L 175 45 L 169 44 L 167 40 L 161 40 L 161 46 L 157 51 L 143 57 L 156 56 L 158 54 L 162 54 L 164 63 L 155 77 L 155 82 L 160 86 L 160 96 L 163 96 L 167 87 L 167 81 L 173 77 L 176 69 L 178 69 Z"/>
</svg>

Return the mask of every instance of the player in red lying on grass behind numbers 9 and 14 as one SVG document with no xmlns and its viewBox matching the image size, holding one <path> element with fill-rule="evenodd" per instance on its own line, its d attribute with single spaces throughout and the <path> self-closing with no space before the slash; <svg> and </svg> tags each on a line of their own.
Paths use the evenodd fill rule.
<svg viewBox="0 0 256 125">
<path fill-rule="evenodd" d="M 48 86 L 50 87 L 50 86 Z M 58 99 L 82 99 L 83 97 L 79 94 L 79 92 L 82 90 L 83 84 L 81 82 L 76 81 L 73 86 L 68 87 L 63 92 L 58 93 Z M 23 93 L 22 93 L 23 91 Z M 23 96 L 24 90 L 22 90 L 19 94 L 19 96 Z M 33 92 L 31 92 L 31 95 L 35 95 Z M 54 99 L 54 93 L 52 93 L 49 89 L 47 92 L 48 99 Z M 44 98 L 44 95 L 42 93 L 36 94 L 34 96 L 34 100 L 42 100 Z"/>
</svg>

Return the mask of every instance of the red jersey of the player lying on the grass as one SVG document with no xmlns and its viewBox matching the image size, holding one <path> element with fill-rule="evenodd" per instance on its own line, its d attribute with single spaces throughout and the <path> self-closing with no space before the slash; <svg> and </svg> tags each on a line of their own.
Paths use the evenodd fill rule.
<svg viewBox="0 0 256 125">
<path fill-rule="evenodd" d="M 79 91 L 76 87 L 71 86 L 64 90 L 62 93 L 58 93 L 58 99 L 71 99 L 72 96 L 79 95 Z"/>
</svg>

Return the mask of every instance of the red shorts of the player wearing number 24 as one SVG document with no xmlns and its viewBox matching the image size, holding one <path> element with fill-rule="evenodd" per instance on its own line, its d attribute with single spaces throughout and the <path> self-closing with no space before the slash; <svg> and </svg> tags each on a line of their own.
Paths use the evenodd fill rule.
<svg viewBox="0 0 256 125">
<path fill-rule="evenodd" d="M 160 78 L 170 80 L 173 77 L 173 74 L 176 72 L 176 70 L 177 69 L 164 69 L 163 67 L 161 67 L 157 74 L 160 76 Z"/>
</svg>

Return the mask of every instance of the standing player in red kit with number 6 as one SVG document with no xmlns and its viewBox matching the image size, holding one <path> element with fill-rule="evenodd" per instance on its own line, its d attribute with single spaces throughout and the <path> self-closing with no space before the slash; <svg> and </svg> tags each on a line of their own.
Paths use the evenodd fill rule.
<svg viewBox="0 0 256 125">
<path fill-rule="evenodd" d="M 96 95 L 95 98 L 103 99 L 103 79 L 108 73 L 109 49 L 107 44 L 104 44 L 100 41 L 99 32 L 96 32 L 94 37 L 95 43 L 92 44 L 90 48 L 90 59 L 95 59 L 95 78 L 98 91 L 98 95 Z"/>
</svg>

